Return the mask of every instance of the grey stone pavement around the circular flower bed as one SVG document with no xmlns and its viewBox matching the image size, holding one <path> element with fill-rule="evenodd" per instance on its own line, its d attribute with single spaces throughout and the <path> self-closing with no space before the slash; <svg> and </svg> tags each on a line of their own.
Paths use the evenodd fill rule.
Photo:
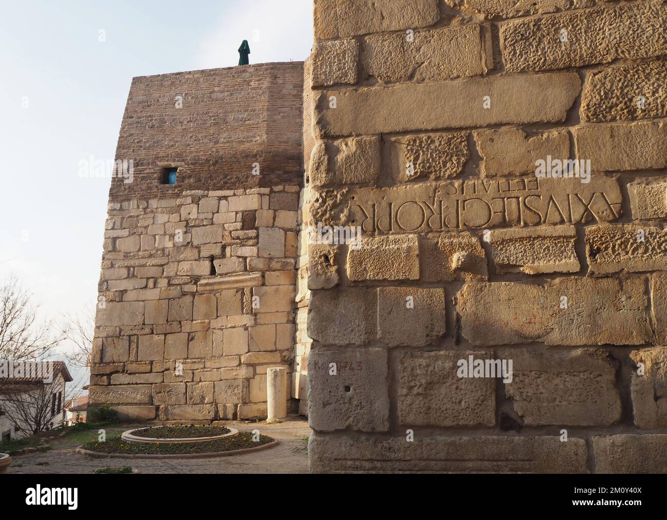
<svg viewBox="0 0 667 520">
<path fill-rule="evenodd" d="M 104 467 L 131 465 L 142 473 L 307 473 L 308 422 L 303 417 L 293 416 L 279 424 L 225 422 L 239 431 L 259 429 L 279 445 L 256 453 L 213 457 L 211 459 L 93 459 L 75 452 L 81 442 L 72 439 L 50 441 L 53 450 L 14 457 L 9 473 L 93 473 Z M 117 435 L 131 426 L 108 429 L 107 435 Z"/>
</svg>

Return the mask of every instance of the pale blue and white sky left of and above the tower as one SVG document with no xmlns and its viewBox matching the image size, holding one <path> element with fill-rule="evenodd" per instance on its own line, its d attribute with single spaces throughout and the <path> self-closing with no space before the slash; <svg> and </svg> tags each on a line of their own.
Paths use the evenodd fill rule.
<svg viewBox="0 0 667 520">
<path fill-rule="evenodd" d="M 59 319 L 97 298 L 110 179 L 82 179 L 79 161 L 113 159 L 132 77 L 236 65 L 243 39 L 250 63 L 301 61 L 312 0 L 1 7 L 0 281 L 17 275 Z"/>
</svg>

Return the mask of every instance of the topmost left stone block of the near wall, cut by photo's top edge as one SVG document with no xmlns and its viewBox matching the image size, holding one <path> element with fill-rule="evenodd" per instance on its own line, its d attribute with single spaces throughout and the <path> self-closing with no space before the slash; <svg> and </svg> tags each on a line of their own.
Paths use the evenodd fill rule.
<svg viewBox="0 0 667 520">
<path fill-rule="evenodd" d="M 437 0 L 315 0 L 315 39 L 418 29 L 438 21 Z"/>
</svg>

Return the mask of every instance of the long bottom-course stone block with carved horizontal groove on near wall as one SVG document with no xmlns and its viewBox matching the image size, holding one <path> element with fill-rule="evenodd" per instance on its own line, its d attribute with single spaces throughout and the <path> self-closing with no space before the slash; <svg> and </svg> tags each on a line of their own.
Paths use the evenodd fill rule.
<svg viewBox="0 0 667 520">
<path fill-rule="evenodd" d="M 586 441 L 569 437 L 406 437 L 317 435 L 308 443 L 312 473 L 588 473 Z"/>
</svg>

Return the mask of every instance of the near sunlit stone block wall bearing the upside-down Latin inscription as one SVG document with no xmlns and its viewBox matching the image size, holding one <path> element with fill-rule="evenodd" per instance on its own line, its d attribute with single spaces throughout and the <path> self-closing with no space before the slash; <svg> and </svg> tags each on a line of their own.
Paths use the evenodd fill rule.
<svg viewBox="0 0 667 520">
<path fill-rule="evenodd" d="M 311 471 L 667 471 L 665 27 L 315 0 Z"/>
</svg>

